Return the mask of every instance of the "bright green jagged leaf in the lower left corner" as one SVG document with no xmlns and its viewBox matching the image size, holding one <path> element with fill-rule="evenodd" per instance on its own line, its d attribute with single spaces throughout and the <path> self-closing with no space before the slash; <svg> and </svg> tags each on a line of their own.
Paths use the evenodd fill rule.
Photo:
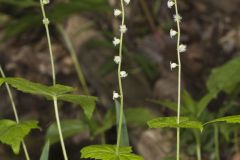
<svg viewBox="0 0 240 160">
<path fill-rule="evenodd" d="M 38 128 L 37 121 L 16 123 L 12 120 L 0 120 L 0 141 L 10 145 L 15 154 L 19 153 L 20 144 L 31 129 Z"/>
</svg>

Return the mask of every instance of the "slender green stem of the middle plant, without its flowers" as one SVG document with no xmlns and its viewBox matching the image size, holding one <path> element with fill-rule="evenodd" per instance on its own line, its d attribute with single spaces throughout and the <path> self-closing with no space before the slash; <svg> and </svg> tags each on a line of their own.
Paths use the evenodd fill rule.
<svg viewBox="0 0 240 160">
<path fill-rule="evenodd" d="M 121 0 L 121 9 L 122 9 L 122 23 L 121 25 L 125 25 L 125 8 L 124 2 Z M 118 64 L 118 83 L 119 83 L 119 91 L 120 91 L 120 116 L 119 116 L 119 125 L 118 125 L 118 132 L 117 132 L 117 147 L 116 147 L 116 154 L 119 153 L 119 146 L 121 141 L 121 132 L 122 132 L 122 122 L 123 122 L 123 89 L 122 89 L 122 78 L 120 75 L 121 67 L 122 67 L 122 52 L 123 52 L 123 32 L 120 35 L 120 44 L 119 44 L 119 57 L 121 59 L 120 63 Z"/>
</svg>

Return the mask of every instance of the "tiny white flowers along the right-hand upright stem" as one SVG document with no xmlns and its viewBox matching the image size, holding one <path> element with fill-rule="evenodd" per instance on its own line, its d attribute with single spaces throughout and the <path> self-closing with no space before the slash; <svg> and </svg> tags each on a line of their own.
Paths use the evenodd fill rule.
<svg viewBox="0 0 240 160">
<path fill-rule="evenodd" d="M 167 2 L 167 6 L 168 6 L 168 8 L 172 8 L 173 6 L 175 6 L 176 4 L 175 4 L 175 1 L 173 1 L 173 0 L 168 0 L 168 2 Z M 176 6 L 175 6 L 176 7 Z M 174 19 L 174 21 L 179 25 L 179 23 L 181 23 L 181 21 L 182 21 L 182 17 L 179 15 L 179 14 L 175 14 L 175 15 L 173 15 L 173 19 Z M 178 35 L 179 33 L 178 33 L 178 31 L 176 31 L 176 30 L 174 30 L 174 29 L 170 29 L 170 32 L 169 32 L 169 35 L 170 35 L 170 37 L 171 38 L 173 38 L 173 37 L 175 37 L 176 35 Z M 187 45 L 185 45 L 185 44 L 180 44 L 179 46 L 177 46 L 177 51 L 178 51 L 178 53 L 183 53 L 183 52 L 186 52 L 186 50 L 187 50 Z M 179 65 L 178 64 L 176 64 L 176 63 L 172 63 L 172 62 L 170 62 L 170 68 L 171 68 L 171 70 L 173 70 L 174 68 L 176 68 L 176 67 L 178 67 Z"/>
</svg>

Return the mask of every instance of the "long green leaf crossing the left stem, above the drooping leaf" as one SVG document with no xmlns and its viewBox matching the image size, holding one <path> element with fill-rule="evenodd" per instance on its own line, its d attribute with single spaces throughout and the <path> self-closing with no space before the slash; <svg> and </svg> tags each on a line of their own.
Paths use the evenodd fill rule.
<svg viewBox="0 0 240 160">
<path fill-rule="evenodd" d="M 3 78 L 3 80 L 21 92 L 40 95 L 46 98 L 58 96 L 64 93 L 72 92 L 74 90 L 72 87 L 60 84 L 49 87 L 40 83 L 31 82 L 23 78 Z"/>
</svg>

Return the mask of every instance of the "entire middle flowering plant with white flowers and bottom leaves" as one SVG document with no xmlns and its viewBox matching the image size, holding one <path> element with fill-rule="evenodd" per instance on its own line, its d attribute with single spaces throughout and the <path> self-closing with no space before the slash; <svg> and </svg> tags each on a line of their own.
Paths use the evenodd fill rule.
<svg viewBox="0 0 240 160">
<path fill-rule="evenodd" d="M 119 37 L 113 38 L 113 45 L 119 46 L 118 55 L 114 56 L 113 61 L 118 65 L 118 85 L 119 91 L 113 91 L 113 100 L 118 103 L 120 101 L 120 114 L 118 121 L 118 129 L 117 129 L 117 143 L 116 145 L 92 145 L 84 147 L 81 150 L 81 158 L 92 158 L 92 159 L 100 159 L 100 160 L 143 160 L 142 157 L 135 155 L 132 153 L 132 148 L 129 146 L 120 146 L 121 142 L 121 133 L 122 133 L 122 124 L 123 124 L 123 89 L 122 89 L 122 79 L 128 76 L 128 73 L 122 70 L 122 60 L 123 60 L 123 38 L 124 34 L 127 32 L 127 26 L 125 24 L 125 5 L 129 5 L 130 0 L 120 0 L 121 9 L 114 9 L 113 14 L 115 17 L 121 16 L 121 24 L 119 26 Z"/>
</svg>

